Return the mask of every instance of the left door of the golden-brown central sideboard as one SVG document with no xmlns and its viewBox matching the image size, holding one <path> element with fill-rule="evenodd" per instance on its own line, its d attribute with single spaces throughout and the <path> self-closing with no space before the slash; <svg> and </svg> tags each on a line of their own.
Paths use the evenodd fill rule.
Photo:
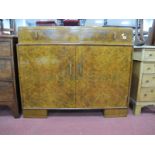
<svg viewBox="0 0 155 155">
<path fill-rule="evenodd" d="M 75 47 L 19 46 L 24 108 L 75 107 Z"/>
</svg>

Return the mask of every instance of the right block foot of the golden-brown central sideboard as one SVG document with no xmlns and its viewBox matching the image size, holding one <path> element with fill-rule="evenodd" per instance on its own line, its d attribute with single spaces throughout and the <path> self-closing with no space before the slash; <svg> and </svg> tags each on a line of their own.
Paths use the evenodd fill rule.
<svg viewBox="0 0 155 155">
<path fill-rule="evenodd" d="M 104 117 L 126 117 L 128 115 L 128 109 L 105 109 Z"/>
</svg>

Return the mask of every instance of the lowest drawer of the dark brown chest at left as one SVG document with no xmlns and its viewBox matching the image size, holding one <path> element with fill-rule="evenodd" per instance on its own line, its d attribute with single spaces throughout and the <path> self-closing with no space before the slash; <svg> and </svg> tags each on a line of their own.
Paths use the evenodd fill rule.
<svg viewBox="0 0 155 155">
<path fill-rule="evenodd" d="M 14 100 L 14 87 L 12 82 L 0 82 L 0 101 Z"/>
</svg>

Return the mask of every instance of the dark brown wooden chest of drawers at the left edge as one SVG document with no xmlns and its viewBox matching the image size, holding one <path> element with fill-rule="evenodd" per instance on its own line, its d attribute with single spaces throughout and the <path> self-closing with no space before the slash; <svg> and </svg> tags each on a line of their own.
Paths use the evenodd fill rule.
<svg viewBox="0 0 155 155">
<path fill-rule="evenodd" d="M 19 116 L 16 43 L 15 36 L 0 36 L 0 106 L 8 106 L 14 117 Z"/>
</svg>

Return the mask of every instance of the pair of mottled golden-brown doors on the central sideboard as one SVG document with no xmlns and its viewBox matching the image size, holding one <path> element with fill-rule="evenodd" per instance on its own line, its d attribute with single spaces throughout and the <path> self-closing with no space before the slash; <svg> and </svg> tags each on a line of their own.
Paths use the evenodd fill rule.
<svg viewBox="0 0 155 155">
<path fill-rule="evenodd" d="M 19 45 L 24 109 L 127 107 L 131 46 Z"/>
</svg>

